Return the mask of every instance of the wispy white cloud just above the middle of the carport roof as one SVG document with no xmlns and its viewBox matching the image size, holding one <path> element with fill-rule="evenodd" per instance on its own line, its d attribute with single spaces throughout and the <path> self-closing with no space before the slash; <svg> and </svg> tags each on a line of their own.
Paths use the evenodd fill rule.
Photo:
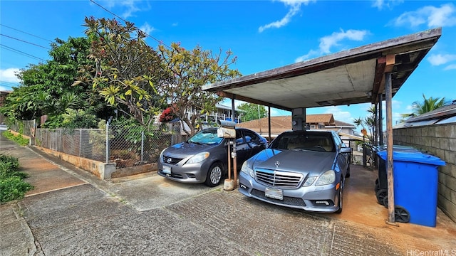
<svg viewBox="0 0 456 256">
<path fill-rule="evenodd" d="M 309 50 L 306 55 L 299 56 L 294 60 L 295 63 L 309 60 L 311 58 L 318 57 L 318 55 L 325 55 L 331 53 L 331 47 L 339 46 L 339 43 L 343 40 L 350 41 L 363 41 L 364 38 L 369 34 L 366 30 L 349 29 L 348 31 L 334 32 L 330 36 L 323 36 L 320 38 L 320 45 L 318 50 Z"/>
</svg>

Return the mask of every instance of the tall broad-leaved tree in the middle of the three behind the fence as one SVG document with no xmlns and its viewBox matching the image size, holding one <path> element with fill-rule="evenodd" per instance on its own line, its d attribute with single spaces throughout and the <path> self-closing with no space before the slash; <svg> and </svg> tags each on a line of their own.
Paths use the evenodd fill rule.
<svg viewBox="0 0 456 256">
<path fill-rule="evenodd" d="M 147 46 L 147 36 L 133 23 L 115 19 L 85 19 L 86 35 L 93 41 L 91 65 L 80 67 L 74 85 L 90 84 L 108 105 L 149 127 L 165 104 L 157 85 L 165 81 L 157 52 Z"/>
</svg>

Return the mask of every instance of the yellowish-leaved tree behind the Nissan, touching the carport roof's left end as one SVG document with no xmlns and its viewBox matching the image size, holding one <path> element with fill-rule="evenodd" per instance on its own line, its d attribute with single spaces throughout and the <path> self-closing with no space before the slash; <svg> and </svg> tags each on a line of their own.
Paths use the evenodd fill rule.
<svg viewBox="0 0 456 256">
<path fill-rule="evenodd" d="M 162 84 L 160 92 L 167 95 L 172 112 L 190 127 L 187 131 L 184 126 L 185 133 L 195 134 L 201 115 L 214 111 L 215 104 L 222 100 L 212 92 L 203 91 L 202 86 L 239 77 L 238 70 L 230 69 L 237 58 L 231 50 L 222 56 L 222 50 L 216 54 L 200 46 L 186 50 L 180 43 L 172 43 L 170 48 L 160 45 L 158 51 L 170 78 Z"/>
</svg>

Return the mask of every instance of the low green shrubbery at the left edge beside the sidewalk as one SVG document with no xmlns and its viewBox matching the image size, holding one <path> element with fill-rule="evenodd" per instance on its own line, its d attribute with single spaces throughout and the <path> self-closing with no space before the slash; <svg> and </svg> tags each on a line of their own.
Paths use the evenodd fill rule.
<svg viewBox="0 0 456 256">
<path fill-rule="evenodd" d="M 0 154 L 0 203 L 24 198 L 27 191 L 33 189 L 24 182 L 27 174 L 18 171 L 19 159 Z"/>
</svg>

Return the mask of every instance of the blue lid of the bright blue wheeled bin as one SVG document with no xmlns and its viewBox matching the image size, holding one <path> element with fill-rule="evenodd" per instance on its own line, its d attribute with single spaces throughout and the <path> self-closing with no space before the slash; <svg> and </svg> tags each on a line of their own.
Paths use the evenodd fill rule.
<svg viewBox="0 0 456 256">
<path fill-rule="evenodd" d="M 386 161 L 386 150 L 378 151 L 378 156 Z M 415 162 L 420 164 L 432 164 L 435 166 L 444 166 L 445 161 L 438 158 L 437 156 L 432 156 L 430 154 L 424 154 L 420 151 L 398 151 L 393 148 L 393 161 L 408 161 Z"/>
</svg>

